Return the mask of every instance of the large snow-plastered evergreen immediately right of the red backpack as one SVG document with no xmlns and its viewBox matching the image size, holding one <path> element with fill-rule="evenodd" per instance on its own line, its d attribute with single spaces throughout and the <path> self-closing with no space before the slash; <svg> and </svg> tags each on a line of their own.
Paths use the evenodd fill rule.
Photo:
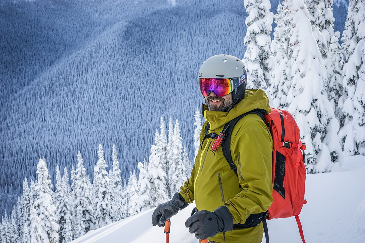
<svg viewBox="0 0 365 243">
<path fill-rule="evenodd" d="M 317 41 L 312 35 L 309 13 L 302 0 L 286 0 L 284 8 L 291 19 L 290 47 L 293 56 L 293 82 L 287 101 L 306 142 L 306 168 L 309 172 L 330 171 L 333 162 L 342 162 L 338 141 L 339 124 L 326 96 L 322 95 L 327 77 Z"/>
</svg>

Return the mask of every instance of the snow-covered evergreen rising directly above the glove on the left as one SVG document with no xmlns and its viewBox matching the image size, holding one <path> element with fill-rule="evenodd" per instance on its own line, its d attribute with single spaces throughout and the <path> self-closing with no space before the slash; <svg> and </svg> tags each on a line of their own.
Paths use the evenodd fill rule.
<svg viewBox="0 0 365 243">
<path fill-rule="evenodd" d="M 151 208 L 157 207 L 161 203 L 164 203 L 168 200 L 168 197 L 165 193 L 165 172 L 162 171 L 160 167 L 160 161 L 158 160 L 158 156 L 156 155 L 157 150 L 156 146 L 151 146 L 151 154 L 149 157 L 148 164 L 148 173 L 150 176 L 150 199 L 151 199 Z"/>
</svg>

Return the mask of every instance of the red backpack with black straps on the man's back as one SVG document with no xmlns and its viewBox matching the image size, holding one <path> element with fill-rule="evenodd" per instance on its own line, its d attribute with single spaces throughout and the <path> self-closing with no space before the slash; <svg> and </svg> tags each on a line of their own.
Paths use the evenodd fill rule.
<svg viewBox="0 0 365 243">
<path fill-rule="evenodd" d="M 205 128 L 205 137 L 215 138 L 215 141 L 211 145 L 213 152 L 218 150 L 219 146 L 222 144 L 223 155 L 231 169 L 238 176 L 237 168 L 232 161 L 230 150 L 231 132 L 234 125 L 248 114 L 259 115 L 266 126 L 268 126 L 273 139 L 273 203 L 268 212 L 250 215 L 246 220 L 246 223 L 255 223 L 247 224 L 246 227 L 257 226 L 262 220 L 266 243 L 269 243 L 268 228 L 265 219 L 267 218 L 270 220 L 295 216 L 300 237 L 303 240 L 303 243 L 305 243 L 303 229 L 298 215 L 303 204 L 307 203 L 304 199 L 307 174 L 304 166 L 304 150 L 306 149 L 306 144 L 299 140 L 299 128 L 293 116 L 286 110 L 271 108 L 271 112 L 266 114 L 265 110 L 255 109 L 228 122 L 224 125 L 223 131 L 219 135 L 215 133 L 208 134 L 210 125 L 207 124 L 207 127 Z M 244 227 L 246 223 L 241 225 L 240 228 Z"/>
</svg>

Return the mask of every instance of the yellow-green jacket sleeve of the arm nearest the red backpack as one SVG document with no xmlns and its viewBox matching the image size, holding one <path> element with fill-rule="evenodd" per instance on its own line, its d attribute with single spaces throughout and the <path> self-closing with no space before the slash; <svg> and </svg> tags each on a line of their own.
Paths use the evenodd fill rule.
<svg viewBox="0 0 365 243">
<path fill-rule="evenodd" d="M 265 212 L 273 200 L 272 137 L 264 122 L 252 115 L 249 122 L 236 124 L 231 137 L 232 158 L 242 191 L 224 205 L 234 224 L 244 224 L 251 213 Z"/>
</svg>

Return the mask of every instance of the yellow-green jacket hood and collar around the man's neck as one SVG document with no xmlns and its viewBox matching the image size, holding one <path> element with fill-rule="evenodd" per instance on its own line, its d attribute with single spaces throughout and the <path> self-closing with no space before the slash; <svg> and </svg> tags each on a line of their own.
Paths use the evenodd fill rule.
<svg viewBox="0 0 365 243">
<path fill-rule="evenodd" d="M 228 112 L 210 111 L 208 110 L 208 106 L 203 103 L 202 113 L 205 120 L 210 124 L 210 130 L 214 130 L 220 126 L 223 126 L 239 115 L 254 109 L 263 109 L 267 114 L 269 114 L 271 111 L 269 106 L 269 98 L 262 89 L 246 89 L 245 97 Z"/>
</svg>

